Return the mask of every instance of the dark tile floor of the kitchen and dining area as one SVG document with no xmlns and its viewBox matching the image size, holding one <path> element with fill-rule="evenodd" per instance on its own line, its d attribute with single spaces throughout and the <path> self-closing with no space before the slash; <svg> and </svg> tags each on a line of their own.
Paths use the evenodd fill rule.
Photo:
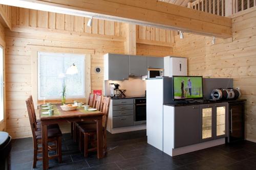
<svg viewBox="0 0 256 170">
<path fill-rule="evenodd" d="M 70 134 L 62 136 L 62 163 L 50 160 L 50 169 L 256 169 L 256 143 L 243 141 L 219 145 L 193 153 L 170 157 L 146 142 L 146 132 L 108 134 L 108 155 L 96 153 L 84 158 Z M 32 138 L 12 142 L 12 169 L 32 169 Z M 37 168 L 41 169 L 41 161 Z"/>
</svg>

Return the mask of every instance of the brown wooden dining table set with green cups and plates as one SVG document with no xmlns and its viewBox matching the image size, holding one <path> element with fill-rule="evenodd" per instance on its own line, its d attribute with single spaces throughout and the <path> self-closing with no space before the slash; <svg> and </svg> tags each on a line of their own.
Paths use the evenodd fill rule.
<svg viewBox="0 0 256 170">
<path fill-rule="evenodd" d="M 83 122 L 95 121 L 97 127 L 97 158 L 103 157 L 103 134 L 102 134 L 102 116 L 101 111 L 88 111 L 83 107 L 77 107 L 76 110 L 63 111 L 61 104 L 52 105 L 53 115 L 43 114 L 46 110 L 43 106 L 39 106 L 39 115 L 41 120 L 41 134 L 42 134 L 42 169 L 49 169 L 49 155 L 48 155 L 48 131 L 47 127 L 51 124 L 58 124 L 61 122 Z"/>
</svg>

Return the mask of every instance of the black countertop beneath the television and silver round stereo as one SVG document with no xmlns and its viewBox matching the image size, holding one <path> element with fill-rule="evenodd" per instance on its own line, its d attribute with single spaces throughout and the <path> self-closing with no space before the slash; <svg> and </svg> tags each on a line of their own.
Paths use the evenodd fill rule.
<svg viewBox="0 0 256 170">
<path fill-rule="evenodd" d="M 165 106 L 172 106 L 172 107 L 178 107 L 178 106 L 189 106 L 189 105 L 203 105 L 203 104 L 215 104 L 215 103 L 236 103 L 236 102 L 245 102 L 246 100 L 218 100 L 218 101 L 201 101 L 201 102 L 188 102 L 188 101 L 182 101 L 182 102 L 175 102 L 175 103 L 164 103 Z"/>
</svg>

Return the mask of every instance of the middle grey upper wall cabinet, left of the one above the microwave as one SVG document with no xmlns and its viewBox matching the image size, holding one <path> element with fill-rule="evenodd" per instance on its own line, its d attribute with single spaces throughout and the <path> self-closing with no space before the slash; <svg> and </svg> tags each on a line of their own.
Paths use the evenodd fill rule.
<svg viewBox="0 0 256 170">
<path fill-rule="evenodd" d="M 147 57 L 129 56 L 129 75 L 130 76 L 147 75 Z"/>
</svg>

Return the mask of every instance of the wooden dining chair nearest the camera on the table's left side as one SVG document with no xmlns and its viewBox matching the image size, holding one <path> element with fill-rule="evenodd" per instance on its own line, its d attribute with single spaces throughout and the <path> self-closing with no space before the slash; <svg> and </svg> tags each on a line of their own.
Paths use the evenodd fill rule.
<svg viewBox="0 0 256 170">
<path fill-rule="evenodd" d="M 33 117 L 34 107 L 30 98 L 26 100 L 27 111 L 29 115 L 30 127 L 33 136 L 33 167 L 36 166 L 37 160 L 42 160 L 42 157 L 37 157 L 38 153 L 42 153 L 42 148 L 38 147 L 41 144 L 41 131 L 36 128 L 35 120 Z M 61 156 L 61 131 L 58 128 L 48 129 L 48 142 L 53 142 L 53 145 L 49 145 L 49 151 L 56 151 L 56 155 L 49 156 L 49 159 L 58 158 L 58 161 L 62 161 Z"/>
</svg>

